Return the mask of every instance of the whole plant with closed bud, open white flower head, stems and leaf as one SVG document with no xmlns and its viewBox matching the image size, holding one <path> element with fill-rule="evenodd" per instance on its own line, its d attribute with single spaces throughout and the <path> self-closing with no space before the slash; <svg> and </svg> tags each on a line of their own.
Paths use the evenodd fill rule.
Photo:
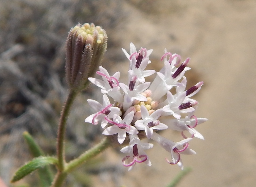
<svg viewBox="0 0 256 187">
<path fill-rule="evenodd" d="M 201 89 L 203 82 L 186 89 L 187 80 L 184 74 L 190 69 L 187 67 L 190 58 L 186 58 L 181 63 L 180 55 L 172 54 L 165 49 L 161 57 L 163 68 L 159 72 L 145 70 L 151 63 L 149 56 L 153 50 L 140 48 L 137 51 L 131 43 L 130 54 L 122 49 L 129 62 L 127 63 L 128 79 L 126 83 L 122 83 L 119 82 L 120 72 L 110 76 L 108 71 L 100 66 L 106 46 L 107 35 L 100 26 L 78 24 L 70 30 L 66 42 L 65 67 L 69 95 L 59 120 L 57 158 L 44 156 L 32 137 L 24 133 L 29 148 L 37 150 L 34 153 L 36 158 L 19 168 L 12 182 L 20 180 L 38 168 L 47 169 L 47 165 L 54 164 L 58 170 L 54 178 L 51 179 L 48 170 L 43 172 L 48 172 L 49 179 L 46 180 L 49 186 L 60 187 L 69 172 L 107 147 L 117 145 L 123 147 L 121 152 L 124 153 L 124 158 L 120 162 L 128 170 L 131 170 L 136 163 L 150 166 L 149 156 L 144 150 L 153 148 L 153 144 L 141 142 L 142 139 L 153 139 L 157 142 L 170 153 L 166 158 L 167 163 L 177 164 L 182 170 L 180 154 L 196 153 L 189 148 L 189 141 L 194 137 L 204 139 L 195 127 L 207 119 L 195 116 L 198 102 L 191 99 Z M 100 79 L 93 78 L 95 72 Z M 153 75 L 155 79 L 152 82 L 145 82 L 145 77 Z M 104 129 L 103 134 L 107 136 L 90 150 L 66 163 L 64 153 L 66 120 L 75 97 L 80 91 L 85 90 L 90 82 L 101 88 L 103 99 L 100 102 L 88 99 L 95 113 L 87 117 L 85 122 L 86 125 L 89 125 L 88 123 L 101 125 Z M 173 87 L 176 88 L 175 91 Z M 109 98 L 112 98 L 112 103 Z M 170 129 L 180 131 L 182 140 L 173 142 L 157 133 L 159 130 Z M 188 131 L 191 136 L 186 137 L 184 131 Z"/>
</svg>

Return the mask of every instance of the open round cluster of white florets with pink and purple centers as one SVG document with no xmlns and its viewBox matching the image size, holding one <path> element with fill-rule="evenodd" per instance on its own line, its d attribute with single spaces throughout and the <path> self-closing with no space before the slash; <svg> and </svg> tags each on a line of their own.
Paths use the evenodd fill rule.
<svg viewBox="0 0 256 187">
<path fill-rule="evenodd" d="M 96 86 L 101 88 L 103 104 L 88 99 L 89 105 L 96 113 L 86 118 L 85 122 L 96 125 L 101 121 L 104 135 L 117 134 L 118 142 L 124 142 L 126 136 L 130 138 L 130 145 L 121 149 L 126 156 L 122 163 L 131 170 L 136 163 L 151 162 L 144 152 L 153 147 L 151 143 L 142 143 L 140 137 L 147 137 L 159 143 L 165 150 L 171 153 L 171 160 L 166 158 L 169 164 L 178 164 L 183 169 L 180 154 L 195 154 L 189 147 L 189 141 L 193 137 L 204 139 L 194 128 L 196 125 L 207 121 L 206 118 L 197 118 L 194 115 L 198 102 L 190 97 L 195 95 L 203 85 L 203 82 L 185 90 L 186 78 L 184 73 L 189 70 L 186 67 L 190 61 L 187 58 L 179 67 L 181 57 L 165 50 L 161 60 L 164 67 L 160 72 L 145 70 L 151 63 L 149 55 L 151 50 L 141 48 L 138 52 L 133 43 L 130 45 L 130 54 L 122 49 L 130 61 L 129 78 L 127 85 L 119 82 L 120 72 L 110 76 L 106 69 L 100 66 L 96 74 L 102 79 L 89 78 Z M 167 58 L 169 56 L 169 59 Z M 152 83 L 145 82 L 145 77 L 156 73 Z M 178 82 L 182 79 L 181 82 Z M 169 90 L 176 87 L 176 93 Z M 114 99 L 110 103 L 109 97 Z M 184 118 L 181 116 L 183 113 Z M 183 140 L 173 142 L 156 133 L 157 130 L 172 129 L 181 131 Z M 183 131 L 188 131 L 192 136 L 187 138 Z M 144 135 L 144 136 L 140 136 Z"/>
</svg>

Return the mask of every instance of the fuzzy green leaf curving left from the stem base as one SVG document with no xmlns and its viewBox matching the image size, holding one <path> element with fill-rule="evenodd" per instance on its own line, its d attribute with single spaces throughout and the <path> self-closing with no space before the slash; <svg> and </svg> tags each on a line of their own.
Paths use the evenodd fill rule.
<svg viewBox="0 0 256 187">
<path fill-rule="evenodd" d="M 58 160 L 57 158 L 54 157 L 50 157 L 50 156 L 40 156 L 37 158 L 34 158 L 33 160 L 31 160 L 29 163 L 21 166 L 16 173 L 14 174 L 11 182 L 14 183 L 20 179 L 22 179 L 23 177 L 25 177 L 26 175 L 28 175 L 29 173 L 35 171 L 38 168 L 43 168 L 47 165 L 50 164 L 57 164 Z"/>
</svg>

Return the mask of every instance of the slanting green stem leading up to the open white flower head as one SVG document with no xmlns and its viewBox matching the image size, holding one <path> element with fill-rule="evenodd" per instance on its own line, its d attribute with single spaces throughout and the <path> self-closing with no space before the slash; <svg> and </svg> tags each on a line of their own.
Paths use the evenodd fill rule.
<svg viewBox="0 0 256 187">
<path fill-rule="evenodd" d="M 70 163 L 66 165 L 65 171 L 71 172 L 73 169 L 77 168 L 90 158 L 95 157 L 96 155 L 103 152 L 105 149 L 107 149 L 110 146 L 108 138 L 104 138 L 101 140 L 100 143 L 95 145 L 93 148 L 89 149 L 88 151 L 81 154 L 78 158 L 71 160 Z"/>
</svg>

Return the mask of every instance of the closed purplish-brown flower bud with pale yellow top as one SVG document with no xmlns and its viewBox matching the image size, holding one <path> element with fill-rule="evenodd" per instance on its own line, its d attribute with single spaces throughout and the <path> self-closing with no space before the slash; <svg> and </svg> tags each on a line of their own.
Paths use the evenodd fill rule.
<svg viewBox="0 0 256 187">
<path fill-rule="evenodd" d="M 71 28 L 66 41 L 66 81 L 69 87 L 81 91 L 94 77 L 107 48 L 107 34 L 93 23 Z"/>
</svg>

